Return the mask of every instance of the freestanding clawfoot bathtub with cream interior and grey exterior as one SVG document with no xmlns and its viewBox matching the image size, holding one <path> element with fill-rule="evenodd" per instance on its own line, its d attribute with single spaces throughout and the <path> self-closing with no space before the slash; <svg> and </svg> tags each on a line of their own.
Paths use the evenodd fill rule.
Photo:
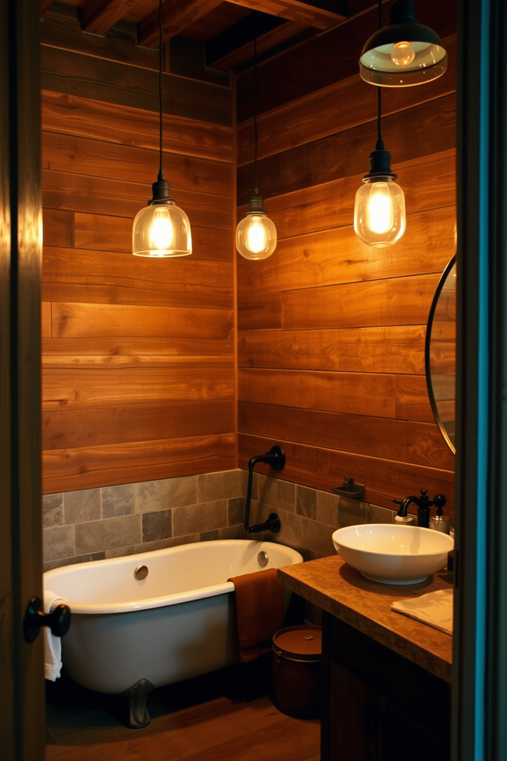
<svg viewBox="0 0 507 761">
<path fill-rule="evenodd" d="M 300 562 L 280 544 L 217 540 L 48 571 L 44 589 L 71 609 L 65 670 L 97 692 L 125 694 L 131 726 L 146 726 L 151 689 L 237 660 L 227 578 Z M 141 566 L 144 579 L 136 578 Z"/>
</svg>

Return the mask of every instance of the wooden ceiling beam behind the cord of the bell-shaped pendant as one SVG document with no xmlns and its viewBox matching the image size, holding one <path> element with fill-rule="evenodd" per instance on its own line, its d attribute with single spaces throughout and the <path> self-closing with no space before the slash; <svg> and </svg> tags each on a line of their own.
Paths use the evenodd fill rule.
<svg viewBox="0 0 507 761">
<path fill-rule="evenodd" d="M 166 0 L 162 6 L 163 41 L 182 34 L 185 27 L 220 5 L 222 0 Z M 138 43 L 158 47 L 158 8 L 138 24 Z"/>
</svg>

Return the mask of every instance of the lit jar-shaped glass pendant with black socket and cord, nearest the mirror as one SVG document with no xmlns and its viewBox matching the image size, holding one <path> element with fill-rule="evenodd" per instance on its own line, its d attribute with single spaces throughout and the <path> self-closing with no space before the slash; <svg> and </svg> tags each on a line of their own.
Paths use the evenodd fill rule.
<svg viewBox="0 0 507 761">
<path fill-rule="evenodd" d="M 356 193 L 354 232 L 367 246 L 382 248 L 400 240 L 406 228 L 405 196 L 391 172 L 391 154 L 385 151 L 380 132 L 381 90 L 378 90 L 378 139 L 369 154 L 369 173 Z"/>
</svg>

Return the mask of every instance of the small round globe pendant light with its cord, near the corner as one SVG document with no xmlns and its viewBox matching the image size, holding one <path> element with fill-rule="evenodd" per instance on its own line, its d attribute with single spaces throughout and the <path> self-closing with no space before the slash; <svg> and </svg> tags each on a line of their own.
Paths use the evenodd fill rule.
<svg viewBox="0 0 507 761">
<path fill-rule="evenodd" d="M 268 259 L 277 247 L 277 228 L 268 217 L 257 187 L 257 37 L 254 37 L 254 190 L 249 210 L 236 228 L 236 248 L 245 259 Z"/>
</svg>

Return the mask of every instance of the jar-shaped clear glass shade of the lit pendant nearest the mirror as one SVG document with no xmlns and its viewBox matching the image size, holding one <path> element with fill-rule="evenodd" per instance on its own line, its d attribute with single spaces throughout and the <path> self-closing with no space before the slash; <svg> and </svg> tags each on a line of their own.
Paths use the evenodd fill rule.
<svg viewBox="0 0 507 761">
<path fill-rule="evenodd" d="M 406 228 L 405 196 L 390 177 L 366 181 L 356 193 L 354 231 L 367 246 L 392 246 Z"/>
</svg>

